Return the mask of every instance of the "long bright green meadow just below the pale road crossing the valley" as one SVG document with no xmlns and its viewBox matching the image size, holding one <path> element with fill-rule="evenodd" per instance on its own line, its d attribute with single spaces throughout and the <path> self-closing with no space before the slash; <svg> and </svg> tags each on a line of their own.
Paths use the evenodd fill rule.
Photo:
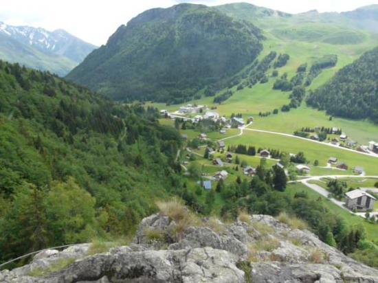
<svg viewBox="0 0 378 283">
<path fill-rule="evenodd" d="M 311 163 L 318 159 L 320 166 L 326 166 L 326 161 L 329 159 L 329 157 L 337 157 L 339 161 L 343 161 L 348 164 L 349 170 L 347 172 L 349 174 L 353 174 L 352 170 L 355 166 L 364 167 L 366 174 L 378 174 L 378 159 L 375 157 L 369 157 L 366 155 L 361 155 L 357 152 L 355 153 L 342 150 L 341 148 L 333 148 L 331 146 L 317 144 L 304 139 L 296 139 L 294 137 L 285 137 L 270 133 L 244 131 L 243 135 L 240 137 L 227 139 L 225 143 L 226 145 L 245 144 L 246 146 L 256 146 L 256 148 L 271 148 L 287 151 L 293 154 L 302 151 L 304 152 L 305 157 L 307 157 Z"/>
</svg>

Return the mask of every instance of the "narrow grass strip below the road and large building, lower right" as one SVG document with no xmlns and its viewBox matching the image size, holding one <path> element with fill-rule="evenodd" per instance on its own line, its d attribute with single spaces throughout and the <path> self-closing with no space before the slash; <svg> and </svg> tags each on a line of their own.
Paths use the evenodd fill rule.
<svg viewBox="0 0 378 283">
<path fill-rule="evenodd" d="M 338 207 L 334 203 L 332 203 L 329 199 L 326 199 L 324 196 L 321 196 L 317 192 L 314 192 L 310 188 L 307 188 L 307 186 L 303 185 L 302 183 L 291 183 L 287 186 L 287 189 L 285 192 L 287 194 L 293 196 L 296 194 L 296 192 L 307 192 L 307 195 L 311 199 L 321 199 L 322 203 L 325 207 L 327 207 L 335 216 L 342 216 L 347 220 L 347 222 L 351 225 L 357 225 L 359 223 L 362 223 L 366 229 L 367 232 L 367 238 L 369 240 L 377 240 L 378 239 L 378 225 L 368 223 L 366 220 L 364 220 L 362 217 L 355 216 L 351 213 L 349 213 L 346 210 L 343 210 L 341 207 Z"/>
</svg>

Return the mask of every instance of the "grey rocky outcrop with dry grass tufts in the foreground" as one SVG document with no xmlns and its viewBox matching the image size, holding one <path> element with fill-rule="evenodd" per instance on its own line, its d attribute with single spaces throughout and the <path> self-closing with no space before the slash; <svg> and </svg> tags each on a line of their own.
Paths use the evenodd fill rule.
<svg viewBox="0 0 378 283">
<path fill-rule="evenodd" d="M 310 231 L 291 229 L 271 216 L 246 222 L 203 219 L 179 230 L 175 221 L 154 214 L 142 220 L 128 246 L 94 256 L 87 256 L 89 245 L 43 251 L 25 267 L 2 271 L 0 282 L 378 282 L 376 269 Z M 76 261 L 40 277 L 33 273 L 67 258 Z"/>
</svg>

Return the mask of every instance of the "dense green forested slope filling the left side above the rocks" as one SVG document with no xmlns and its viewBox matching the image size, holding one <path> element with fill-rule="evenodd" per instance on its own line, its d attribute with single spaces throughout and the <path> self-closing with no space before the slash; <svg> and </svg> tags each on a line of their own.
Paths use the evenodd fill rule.
<svg viewBox="0 0 378 283">
<path fill-rule="evenodd" d="M 0 61 L 0 262 L 127 235 L 152 199 L 179 193 L 181 137 L 156 115 Z"/>
</svg>

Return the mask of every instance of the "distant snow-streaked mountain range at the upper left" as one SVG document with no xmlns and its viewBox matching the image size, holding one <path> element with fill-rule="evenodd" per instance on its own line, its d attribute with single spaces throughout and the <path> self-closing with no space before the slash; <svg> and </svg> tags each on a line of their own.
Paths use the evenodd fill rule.
<svg viewBox="0 0 378 283">
<path fill-rule="evenodd" d="M 0 58 L 64 76 L 96 48 L 65 32 L 0 22 Z"/>
</svg>

